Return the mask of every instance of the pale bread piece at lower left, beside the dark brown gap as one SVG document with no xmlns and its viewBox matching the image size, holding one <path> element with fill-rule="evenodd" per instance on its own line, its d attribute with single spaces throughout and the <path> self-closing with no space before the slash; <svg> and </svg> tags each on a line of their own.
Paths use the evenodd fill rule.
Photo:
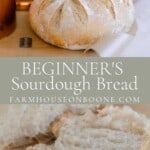
<svg viewBox="0 0 150 150">
<path fill-rule="evenodd" d="M 0 143 L 45 133 L 66 109 L 67 105 L 10 105 L 7 113 L 0 116 Z"/>
</svg>

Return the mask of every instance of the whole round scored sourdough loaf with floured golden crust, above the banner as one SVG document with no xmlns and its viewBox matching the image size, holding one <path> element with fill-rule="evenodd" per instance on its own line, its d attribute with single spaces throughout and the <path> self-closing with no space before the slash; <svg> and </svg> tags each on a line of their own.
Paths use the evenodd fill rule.
<svg viewBox="0 0 150 150">
<path fill-rule="evenodd" d="M 30 23 L 48 43 L 71 50 L 128 32 L 134 22 L 132 0 L 34 0 Z"/>
</svg>

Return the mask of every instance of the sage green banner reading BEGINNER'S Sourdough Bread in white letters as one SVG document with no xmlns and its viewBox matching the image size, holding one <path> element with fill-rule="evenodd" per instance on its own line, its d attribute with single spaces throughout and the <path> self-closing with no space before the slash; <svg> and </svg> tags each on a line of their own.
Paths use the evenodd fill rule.
<svg viewBox="0 0 150 150">
<path fill-rule="evenodd" d="M 0 103 L 149 103 L 150 58 L 0 58 Z"/>
</svg>

